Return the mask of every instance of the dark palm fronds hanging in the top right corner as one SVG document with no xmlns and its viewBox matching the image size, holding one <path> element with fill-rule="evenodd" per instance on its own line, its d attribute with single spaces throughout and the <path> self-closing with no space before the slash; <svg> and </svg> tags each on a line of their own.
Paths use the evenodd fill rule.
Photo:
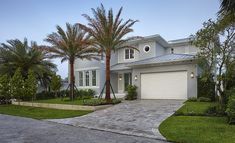
<svg viewBox="0 0 235 143">
<path fill-rule="evenodd" d="M 235 15 L 235 0 L 221 0 L 219 14 Z"/>
</svg>

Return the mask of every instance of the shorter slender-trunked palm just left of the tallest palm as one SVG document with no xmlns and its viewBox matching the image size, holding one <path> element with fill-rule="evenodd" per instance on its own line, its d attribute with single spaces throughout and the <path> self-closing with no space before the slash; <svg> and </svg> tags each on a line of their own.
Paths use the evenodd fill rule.
<svg viewBox="0 0 235 143">
<path fill-rule="evenodd" d="M 51 58 L 62 58 L 61 62 L 69 61 L 70 66 L 70 99 L 74 98 L 74 61 L 96 58 L 96 48 L 90 46 L 92 41 L 86 31 L 78 25 L 66 23 L 66 31 L 57 26 L 57 32 L 47 36 L 45 41 L 52 46 L 45 47 Z"/>
</svg>

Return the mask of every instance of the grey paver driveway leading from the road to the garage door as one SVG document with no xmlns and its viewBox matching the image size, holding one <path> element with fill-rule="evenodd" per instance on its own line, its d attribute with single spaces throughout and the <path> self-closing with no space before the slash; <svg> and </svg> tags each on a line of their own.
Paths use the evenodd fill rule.
<svg viewBox="0 0 235 143">
<path fill-rule="evenodd" d="M 82 117 L 50 121 L 164 140 L 158 126 L 181 107 L 182 103 L 180 100 L 137 100 L 123 102 Z"/>
</svg>

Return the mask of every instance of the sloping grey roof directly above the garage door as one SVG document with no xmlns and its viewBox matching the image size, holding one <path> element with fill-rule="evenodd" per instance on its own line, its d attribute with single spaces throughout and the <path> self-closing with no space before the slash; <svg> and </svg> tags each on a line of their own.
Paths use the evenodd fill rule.
<svg viewBox="0 0 235 143">
<path fill-rule="evenodd" d="M 126 66 L 137 66 L 137 65 L 146 65 L 146 64 L 160 64 L 160 63 L 168 63 L 168 62 L 179 62 L 185 60 L 193 60 L 195 59 L 195 55 L 189 54 L 169 54 L 157 56 L 145 60 L 140 60 L 136 62 L 129 63 Z"/>
</svg>

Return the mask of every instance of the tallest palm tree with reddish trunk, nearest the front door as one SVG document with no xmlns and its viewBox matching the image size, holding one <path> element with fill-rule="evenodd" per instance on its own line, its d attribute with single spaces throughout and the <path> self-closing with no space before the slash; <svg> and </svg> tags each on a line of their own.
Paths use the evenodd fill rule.
<svg viewBox="0 0 235 143">
<path fill-rule="evenodd" d="M 101 7 L 97 9 L 92 8 L 92 12 L 94 18 L 88 16 L 87 14 L 83 14 L 83 16 L 88 21 L 88 26 L 83 24 L 79 24 L 81 28 L 87 31 L 92 39 L 94 40 L 94 44 L 96 44 L 100 51 L 104 52 L 106 57 L 106 93 L 105 99 L 107 102 L 111 101 L 110 97 L 110 58 L 111 52 L 115 51 L 118 48 L 130 47 L 125 46 L 125 43 L 129 40 L 133 40 L 133 38 L 123 39 L 128 33 L 132 32 L 131 28 L 137 20 L 127 20 L 123 21 L 120 18 L 122 7 L 119 9 L 117 15 L 113 16 L 113 10 L 110 9 L 108 13 L 106 13 L 104 6 L 101 4 Z"/>
</svg>

